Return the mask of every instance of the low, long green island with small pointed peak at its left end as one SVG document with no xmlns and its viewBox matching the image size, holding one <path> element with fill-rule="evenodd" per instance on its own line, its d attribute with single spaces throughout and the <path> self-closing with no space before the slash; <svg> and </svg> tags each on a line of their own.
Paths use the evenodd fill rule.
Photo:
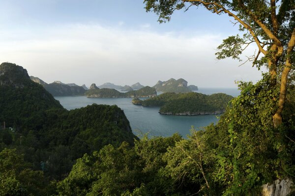
<svg viewBox="0 0 295 196">
<path fill-rule="evenodd" d="M 157 96 L 157 92 L 155 88 L 146 86 L 139 90 L 128 91 L 126 93 L 121 93 L 117 91 L 116 89 L 108 89 L 108 88 L 90 89 L 85 93 L 85 95 L 88 98 L 152 98 Z"/>
</svg>

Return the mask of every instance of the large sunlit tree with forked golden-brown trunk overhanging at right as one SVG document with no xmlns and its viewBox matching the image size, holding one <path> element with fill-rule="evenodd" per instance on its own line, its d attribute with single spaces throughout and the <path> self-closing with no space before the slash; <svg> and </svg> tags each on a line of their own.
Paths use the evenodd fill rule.
<svg viewBox="0 0 295 196">
<path fill-rule="evenodd" d="M 239 55 L 251 43 L 255 43 L 258 52 L 248 57 L 253 66 L 266 65 L 269 70 L 269 82 L 273 89 L 279 87 L 279 93 L 273 101 L 277 107 L 273 110 L 274 126 L 282 123 L 282 111 L 286 100 L 288 77 L 295 67 L 295 1 L 294 0 L 145 0 L 146 10 L 159 15 L 159 22 L 171 19 L 175 10 L 187 10 L 192 6 L 204 6 L 208 11 L 221 15 L 228 14 L 239 24 L 239 35 L 223 40 L 216 52 L 218 59 Z M 203 19 L 204 20 L 204 19 Z"/>
</svg>

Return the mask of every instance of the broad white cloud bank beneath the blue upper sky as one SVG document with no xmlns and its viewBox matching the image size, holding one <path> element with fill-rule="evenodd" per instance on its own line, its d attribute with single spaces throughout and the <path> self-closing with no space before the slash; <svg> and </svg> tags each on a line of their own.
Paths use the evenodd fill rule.
<svg viewBox="0 0 295 196">
<path fill-rule="evenodd" d="M 238 75 L 244 80 L 260 77 L 249 64 L 238 67 L 233 60 L 215 60 L 215 49 L 224 39 L 220 35 L 147 32 L 144 26 L 149 27 L 74 24 L 1 31 L 0 61 L 19 64 L 46 82 L 80 85 L 154 85 L 157 80 L 182 77 L 202 87 L 233 87 Z"/>
</svg>

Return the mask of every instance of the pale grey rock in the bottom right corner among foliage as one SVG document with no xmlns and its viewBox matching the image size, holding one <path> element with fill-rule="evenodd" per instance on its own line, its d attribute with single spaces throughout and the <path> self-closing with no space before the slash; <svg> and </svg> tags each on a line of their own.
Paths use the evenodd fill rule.
<svg viewBox="0 0 295 196">
<path fill-rule="evenodd" d="M 290 179 L 276 180 L 272 184 L 262 186 L 262 196 L 288 196 L 292 191 L 293 182 Z"/>
</svg>

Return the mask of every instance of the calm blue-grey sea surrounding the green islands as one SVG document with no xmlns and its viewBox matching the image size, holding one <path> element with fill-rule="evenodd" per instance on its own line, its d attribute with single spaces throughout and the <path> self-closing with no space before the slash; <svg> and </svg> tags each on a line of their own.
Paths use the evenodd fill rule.
<svg viewBox="0 0 295 196">
<path fill-rule="evenodd" d="M 226 93 L 233 97 L 239 95 L 239 90 L 234 88 L 199 88 L 197 93 L 211 95 L 214 93 Z M 160 93 L 158 93 L 160 94 Z M 202 130 L 211 123 L 217 123 L 220 115 L 201 116 L 172 116 L 159 114 L 159 107 L 143 107 L 131 103 L 132 98 L 87 98 L 85 96 L 55 97 L 67 110 L 85 107 L 96 104 L 117 105 L 120 107 L 135 135 L 142 137 L 163 136 L 169 137 L 179 133 L 187 138 L 192 128 Z"/>
</svg>

